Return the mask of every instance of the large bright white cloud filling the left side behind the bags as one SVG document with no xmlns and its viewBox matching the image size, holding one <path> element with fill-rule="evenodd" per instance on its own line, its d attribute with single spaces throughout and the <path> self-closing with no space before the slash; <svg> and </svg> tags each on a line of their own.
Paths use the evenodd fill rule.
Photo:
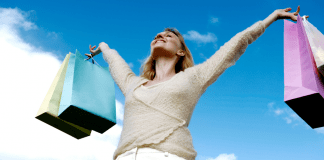
<svg viewBox="0 0 324 160">
<path fill-rule="evenodd" d="M 77 140 L 35 118 L 62 61 L 20 38 L 19 29 L 37 29 L 25 15 L 0 8 L 0 159 L 112 159 L 120 124 Z M 123 120 L 123 105 L 116 104 L 117 119 Z"/>
</svg>

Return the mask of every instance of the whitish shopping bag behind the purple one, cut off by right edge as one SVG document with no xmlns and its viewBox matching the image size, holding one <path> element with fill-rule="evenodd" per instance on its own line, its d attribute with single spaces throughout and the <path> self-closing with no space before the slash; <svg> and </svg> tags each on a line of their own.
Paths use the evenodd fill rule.
<svg viewBox="0 0 324 160">
<path fill-rule="evenodd" d="M 303 17 L 303 25 L 307 34 L 316 66 L 319 72 L 324 75 L 324 35 L 308 20 Z"/>
</svg>

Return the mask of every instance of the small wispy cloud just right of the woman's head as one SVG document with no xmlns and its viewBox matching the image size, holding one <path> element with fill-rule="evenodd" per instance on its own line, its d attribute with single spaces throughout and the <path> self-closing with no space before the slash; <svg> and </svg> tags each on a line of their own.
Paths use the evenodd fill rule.
<svg viewBox="0 0 324 160">
<path fill-rule="evenodd" d="M 200 43 L 210 43 L 210 42 L 216 42 L 217 37 L 213 33 L 207 33 L 205 35 L 202 35 L 198 33 L 197 31 L 188 31 L 188 33 L 183 35 L 183 38 L 185 40 L 194 41 L 198 44 Z"/>
</svg>

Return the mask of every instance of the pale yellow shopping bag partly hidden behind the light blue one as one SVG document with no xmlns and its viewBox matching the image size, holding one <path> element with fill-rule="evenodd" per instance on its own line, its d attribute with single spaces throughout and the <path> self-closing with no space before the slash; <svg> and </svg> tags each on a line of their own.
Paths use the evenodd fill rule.
<svg viewBox="0 0 324 160">
<path fill-rule="evenodd" d="M 36 118 L 71 135 L 76 139 L 87 137 L 91 134 L 91 130 L 77 126 L 58 117 L 61 94 L 63 84 L 70 59 L 70 54 L 65 56 L 65 59 L 57 72 L 50 89 L 48 90 L 41 107 L 39 108 Z"/>
</svg>

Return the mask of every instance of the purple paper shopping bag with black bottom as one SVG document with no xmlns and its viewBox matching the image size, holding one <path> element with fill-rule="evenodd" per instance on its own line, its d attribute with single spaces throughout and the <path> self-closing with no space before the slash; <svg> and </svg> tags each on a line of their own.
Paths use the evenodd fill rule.
<svg viewBox="0 0 324 160">
<path fill-rule="evenodd" d="M 284 20 L 284 101 L 313 129 L 324 126 L 322 79 L 301 17 Z"/>
</svg>

